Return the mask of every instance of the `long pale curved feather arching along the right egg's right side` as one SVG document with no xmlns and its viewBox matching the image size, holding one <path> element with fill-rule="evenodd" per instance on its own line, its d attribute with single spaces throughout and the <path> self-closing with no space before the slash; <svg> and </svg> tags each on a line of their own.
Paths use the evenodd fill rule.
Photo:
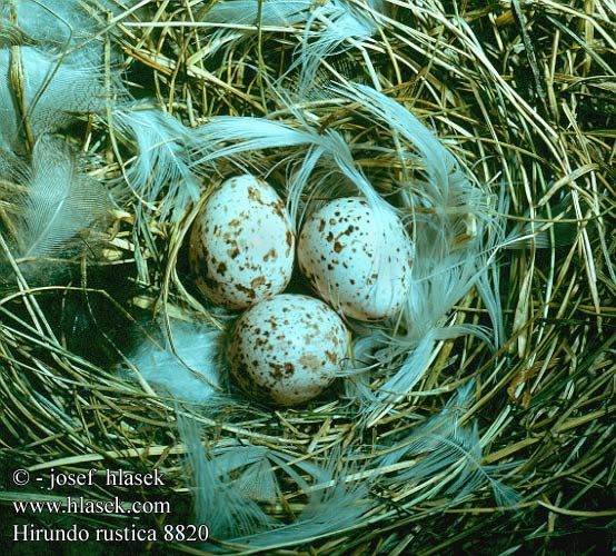
<svg viewBox="0 0 616 556">
<path fill-rule="evenodd" d="M 375 349 L 375 357 L 384 368 L 391 367 L 394 361 L 398 365 L 376 393 L 376 399 L 364 397 L 370 411 L 378 413 L 382 410 L 381 404 L 399 399 L 417 385 L 438 341 L 466 334 L 488 340 L 486 330 L 479 327 L 444 326 L 454 305 L 474 285 L 490 312 L 496 341 L 501 338 L 497 280 L 489 270 L 503 239 L 503 226 L 496 216 L 501 210 L 489 208 L 487 195 L 469 179 L 464 166 L 399 102 L 357 83 L 336 86 L 332 90 L 354 101 L 357 110 L 377 126 L 394 130 L 403 153 L 415 156 L 426 176 L 413 183 L 407 197 L 401 196 L 407 199 L 405 211 L 413 222 L 411 288 L 397 336 L 386 340 L 384 348 Z M 416 195 L 415 190 L 421 193 Z M 460 242 L 459 238 L 465 239 Z M 362 393 L 366 390 L 357 390 L 356 395 Z"/>
</svg>

